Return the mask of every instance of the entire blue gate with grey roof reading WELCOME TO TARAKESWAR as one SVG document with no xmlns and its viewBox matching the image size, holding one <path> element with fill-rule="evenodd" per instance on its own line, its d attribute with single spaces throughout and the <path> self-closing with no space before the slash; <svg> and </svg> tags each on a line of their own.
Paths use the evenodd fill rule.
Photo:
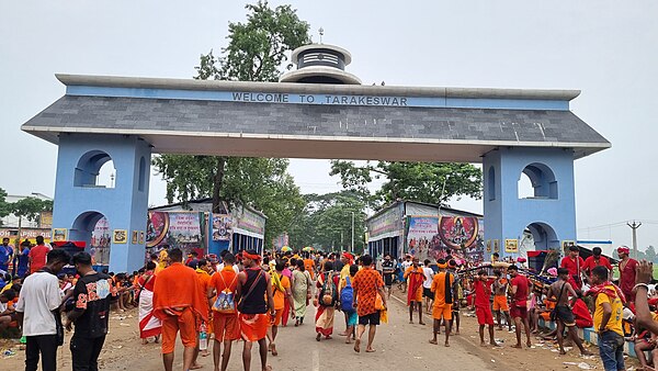
<svg viewBox="0 0 658 371">
<path fill-rule="evenodd" d="M 483 164 L 485 239 L 514 255 L 576 240 L 574 161 L 611 144 L 569 110 L 574 90 L 364 86 L 350 54 L 307 45 L 280 82 L 57 75 L 66 93 L 22 130 L 58 146 L 54 228 L 89 241 L 102 215 L 110 268 L 135 270 L 152 154 Z M 112 159 L 114 188 L 95 186 Z M 526 175 L 534 194 L 519 199 Z M 515 241 L 515 243 L 514 243 Z"/>
</svg>

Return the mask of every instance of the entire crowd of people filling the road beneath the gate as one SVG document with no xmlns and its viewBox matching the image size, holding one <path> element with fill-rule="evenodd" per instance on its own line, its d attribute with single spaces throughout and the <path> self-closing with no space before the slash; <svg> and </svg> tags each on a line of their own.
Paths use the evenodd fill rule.
<svg viewBox="0 0 658 371">
<path fill-rule="evenodd" d="M 55 370 L 64 333 L 73 328 L 73 370 L 97 370 L 111 305 L 118 312 L 138 307 L 141 341 L 161 342 L 166 370 L 173 368 L 177 336 L 184 347 L 183 370 L 200 368 L 197 358 L 209 355 L 215 370 L 226 370 L 237 340 L 243 341 L 245 370 L 251 369 L 254 342 L 260 368 L 269 370 L 268 357 L 279 356 L 281 327 L 308 323 L 309 305 L 316 308 L 317 341 L 332 339 L 339 317 L 344 342 L 361 352 L 367 331 L 364 351 L 374 352 L 376 326 L 387 322 L 387 300 L 396 283 L 406 295 L 410 324 L 417 318 L 426 325 L 423 315 L 431 317 L 432 345 L 443 331 L 443 345 L 450 347 L 451 333 L 460 333 L 460 313 L 466 308 L 475 313 L 483 346 L 488 340 L 499 347 L 495 331 L 507 327 L 515 335 L 514 348 L 530 348 L 536 335 L 554 339 L 561 355 L 567 339 L 589 356 L 576 329 L 593 327 L 605 370 L 624 369 L 625 340 L 635 341 L 647 370 L 653 370 L 654 357 L 645 352 L 658 355 L 653 268 L 631 259 L 624 246 L 617 249 L 619 284 L 612 282 L 613 266 L 600 248 L 582 259 L 578 247 L 570 247 L 559 268 L 545 274 L 496 255 L 489 263 L 469 267 L 450 256 L 422 263 L 412 256 L 385 256 L 375 262 L 368 255 L 349 252 L 260 256 L 225 250 L 218 258 L 200 258 L 168 247 L 152 254 L 139 271 L 114 274 L 97 272 L 89 254 L 71 258 L 64 249 L 50 249 L 43 238 L 27 248 L 27 267 L 16 274 L 7 272 L 2 262 L 8 259 L 0 261 L 0 330 L 12 325 L 22 330 L 26 370 L 36 370 L 39 359 L 43 370 Z M 75 269 L 66 270 L 70 265 Z M 542 333 L 540 318 L 555 322 L 556 329 Z"/>
</svg>

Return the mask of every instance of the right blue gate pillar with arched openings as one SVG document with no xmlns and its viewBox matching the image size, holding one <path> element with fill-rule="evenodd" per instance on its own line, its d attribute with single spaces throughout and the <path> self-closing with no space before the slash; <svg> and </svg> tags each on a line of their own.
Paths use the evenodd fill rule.
<svg viewBox="0 0 658 371">
<path fill-rule="evenodd" d="M 530 175 L 536 181 L 537 193 L 554 187 L 552 199 L 519 199 L 518 182 L 523 170 L 533 164 L 544 165 L 548 178 Z M 531 167 L 536 171 L 537 167 Z M 552 172 L 552 173 L 551 173 Z M 485 239 L 499 240 L 500 256 L 506 239 L 521 239 L 523 229 L 531 225 L 537 249 L 559 248 L 561 240 L 576 240 L 576 200 L 574 192 L 574 154 L 561 148 L 499 148 L 485 155 L 484 210 Z M 547 235 L 543 235 L 546 232 Z M 488 258 L 488 257 L 487 257 Z"/>
</svg>

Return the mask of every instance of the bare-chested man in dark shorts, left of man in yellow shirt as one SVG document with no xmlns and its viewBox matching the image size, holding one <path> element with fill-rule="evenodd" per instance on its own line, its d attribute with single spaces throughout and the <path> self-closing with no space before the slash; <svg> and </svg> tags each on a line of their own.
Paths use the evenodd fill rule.
<svg viewBox="0 0 658 371">
<path fill-rule="evenodd" d="M 571 338 L 571 341 L 574 341 L 574 344 L 578 346 L 578 349 L 580 349 L 580 353 L 582 356 L 590 356 L 591 352 L 587 351 L 582 347 L 582 341 L 580 341 L 580 338 L 576 333 L 576 321 L 574 319 L 574 312 L 571 312 L 571 307 L 578 300 L 578 294 L 576 293 L 571 284 L 567 282 L 569 280 L 569 270 L 566 268 L 558 268 L 557 278 L 558 280 L 551 285 L 551 292 L 548 293 L 548 297 L 556 297 L 555 310 L 551 318 L 557 322 L 557 344 L 559 345 L 559 353 L 567 353 L 563 346 L 563 334 L 566 326 L 568 334 L 567 336 L 569 336 Z M 570 301 L 569 296 L 571 297 Z"/>
</svg>

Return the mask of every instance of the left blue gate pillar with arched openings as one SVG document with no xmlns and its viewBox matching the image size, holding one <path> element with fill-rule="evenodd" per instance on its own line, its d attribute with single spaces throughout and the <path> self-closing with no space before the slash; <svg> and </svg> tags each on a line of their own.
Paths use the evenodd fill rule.
<svg viewBox="0 0 658 371">
<path fill-rule="evenodd" d="M 98 168 L 106 159 L 103 154 L 113 161 L 115 187 L 80 187 L 92 182 L 98 175 Z M 59 137 L 53 227 L 67 228 L 67 239 L 83 240 L 87 246 L 95 222 L 103 215 L 112 231 L 127 231 L 126 244 L 112 243 L 111 271 L 132 272 L 144 266 L 145 245 L 132 244 L 131 236 L 133 231 L 146 231 L 150 156 L 150 145 L 136 136 L 61 134 Z"/>
</svg>

